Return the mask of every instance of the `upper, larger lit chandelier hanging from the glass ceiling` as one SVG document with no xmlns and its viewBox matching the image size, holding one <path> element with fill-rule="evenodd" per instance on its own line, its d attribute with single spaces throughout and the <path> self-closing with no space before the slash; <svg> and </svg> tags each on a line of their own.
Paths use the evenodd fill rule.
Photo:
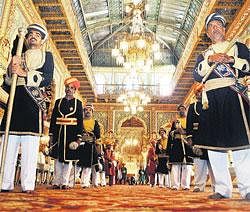
<svg viewBox="0 0 250 212">
<path fill-rule="evenodd" d="M 112 49 L 111 55 L 116 64 L 126 69 L 151 68 L 154 61 L 161 58 L 160 45 L 155 35 L 144 32 L 142 8 L 133 4 L 130 33 L 123 32 L 117 35 L 119 41 Z"/>
</svg>

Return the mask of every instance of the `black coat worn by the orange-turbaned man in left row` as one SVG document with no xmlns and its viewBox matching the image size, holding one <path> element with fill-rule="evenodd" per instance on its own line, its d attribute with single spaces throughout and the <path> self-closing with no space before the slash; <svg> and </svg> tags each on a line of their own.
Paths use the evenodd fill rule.
<svg viewBox="0 0 250 212">
<path fill-rule="evenodd" d="M 57 118 L 76 118 L 77 125 L 56 124 Z M 78 99 L 57 99 L 51 116 L 50 135 L 53 135 L 51 157 L 60 162 L 77 160 L 77 150 L 69 149 L 69 144 L 82 136 L 82 103 Z"/>
</svg>

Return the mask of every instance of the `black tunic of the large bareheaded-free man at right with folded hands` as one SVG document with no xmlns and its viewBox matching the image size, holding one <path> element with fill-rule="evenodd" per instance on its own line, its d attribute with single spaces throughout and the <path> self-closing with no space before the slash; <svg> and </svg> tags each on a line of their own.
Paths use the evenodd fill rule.
<svg viewBox="0 0 250 212">
<path fill-rule="evenodd" d="M 230 64 L 230 66 L 235 73 L 238 73 L 238 78 L 241 78 L 250 75 L 250 56 L 249 50 L 244 44 L 236 44 L 235 54 L 237 54 L 237 52 L 238 54 L 235 56 L 245 59 L 246 64 L 242 67 L 244 70 L 234 68 L 233 64 Z M 194 79 L 198 82 L 201 82 L 204 77 L 201 73 L 206 71 L 206 69 L 202 67 L 202 62 L 205 61 L 205 56 L 208 54 L 207 52 L 205 52 L 204 55 L 199 55 L 197 58 L 196 67 L 194 69 Z M 208 65 L 211 66 L 212 64 Z M 208 77 L 208 80 L 215 78 L 219 77 L 213 71 Z M 247 137 L 237 92 L 227 86 L 207 91 L 207 97 L 209 100 L 209 108 L 203 110 L 200 114 L 200 134 L 202 137 L 197 140 L 199 147 L 211 150 L 237 150 L 249 148 L 250 140 Z M 242 98 L 242 101 L 248 123 L 247 128 L 249 130 L 250 107 L 245 99 Z"/>
</svg>

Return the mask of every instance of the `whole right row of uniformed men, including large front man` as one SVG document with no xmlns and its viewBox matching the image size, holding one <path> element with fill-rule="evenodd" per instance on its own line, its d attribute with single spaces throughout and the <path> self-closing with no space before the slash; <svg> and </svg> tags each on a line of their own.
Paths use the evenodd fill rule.
<svg viewBox="0 0 250 212">
<path fill-rule="evenodd" d="M 186 125 L 185 119 L 173 122 L 168 136 L 169 148 L 164 150 L 172 165 L 173 188 L 178 189 L 179 185 L 186 188 L 194 153 L 200 155 L 194 162 L 197 169 L 194 191 L 204 190 L 208 170 L 214 191 L 209 198 L 231 198 L 233 185 L 228 167 L 231 150 L 239 192 L 243 199 L 250 200 L 250 169 L 246 168 L 250 163 L 249 49 L 243 43 L 226 41 L 226 20 L 220 14 L 210 14 L 205 28 L 212 45 L 198 56 L 194 68 L 194 79 L 200 83 L 195 90 L 197 99 L 189 107 Z M 151 170 L 157 154 L 160 166 L 159 149 L 163 146 L 164 142 L 152 139 L 148 153 L 151 184 L 154 180 Z M 180 177 L 180 170 L 186 173 L 184 178 Z"/>
</svg>

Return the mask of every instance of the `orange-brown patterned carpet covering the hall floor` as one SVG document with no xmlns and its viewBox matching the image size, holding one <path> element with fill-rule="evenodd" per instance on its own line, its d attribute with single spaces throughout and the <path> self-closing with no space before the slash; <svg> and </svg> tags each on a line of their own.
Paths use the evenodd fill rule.
<svg viewBox="0 0 250 212">
<path fill-rule="evenodd" d="M 0 193 L 0 211 L 249 211 L 250 202 L 240 199 L 208 200 L 207 192 L 172 191 L 149 186 L 51 190 L 38 186 L 35 194 Z"/>
</svg>

